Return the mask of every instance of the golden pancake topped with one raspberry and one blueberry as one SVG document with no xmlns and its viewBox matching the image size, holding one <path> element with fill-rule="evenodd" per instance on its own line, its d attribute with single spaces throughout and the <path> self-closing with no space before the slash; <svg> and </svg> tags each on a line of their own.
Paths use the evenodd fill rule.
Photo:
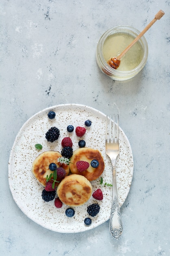
<svg viewBox="0 0 170 256">
<path fill-rule="evenodd" d="M 98 160 L 99 165 L 96 168 L 93 168 L 90 163 L 92 160 Z M 79 172 L 76 167 L 76 162 L 78 161 L 86 161 L 89 163 L 89 168 L 83 172 Z M 92 148 L 78 148 L 73 152 L 73 155 L 70 159 L 70 171 L 73 174 L 83 175 L 87 178 L 87 180 L 92 181 L 96 180 L 104 171 L 105 163 L 101 153 L 98 150 Z"/>
</svg>

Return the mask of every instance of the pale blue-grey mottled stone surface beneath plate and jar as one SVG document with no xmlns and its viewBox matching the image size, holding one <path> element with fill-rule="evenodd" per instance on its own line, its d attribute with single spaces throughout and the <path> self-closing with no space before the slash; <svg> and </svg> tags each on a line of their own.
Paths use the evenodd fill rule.
<svg viewBox="0 0 170 256">
<path fill-rule="evenodd" d="M 165 15 L 145 35 L 144 69 L 126 82 L 102 74 L 100 36 L 118 25 L 141 31 L 159 9 Z M 134 174 L 118 241 L 109 221 L 80 234 L 45 229 L 11 195 L 8 160 L 17 132 L 36 112 L 63 103 L 120 115 Z M 3 256 L 170 255 L 170 0 L 1 0 L 0 120 Z"/>
</svg>

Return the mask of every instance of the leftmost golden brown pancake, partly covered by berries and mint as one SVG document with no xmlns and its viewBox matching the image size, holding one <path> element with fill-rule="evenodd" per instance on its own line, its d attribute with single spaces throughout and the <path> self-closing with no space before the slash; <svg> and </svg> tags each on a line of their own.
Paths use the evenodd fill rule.
<svg viewBox="0 0 170 256">
<path fill-rule="evenodd" d="M 55 163 L 57 167 L 63 167 L 66 171 L 66 175 L 69 174 L 70 172 L 69 165 L 60 164 L 59 162 L 57 162 L 57 159 L 59 157 L 62 157 L 61 153 L 59 153 L 58 151 L 51 150 L 51 151 L 45 151 L 41 153 L 34 160 L 33 167 L 32 167 L 33 174 L 43 186 L 46 186 L 46 176 L 48 175 L 49 177 L 50 174 L 53 173 L 53 171 L 50 171 L 49 169 L 49 165 L 51 163 Z M 61 181 L 59 180 L 59 178 L 57 180 Z M 55 184 L 58 185 L 59 183 L 55 182 Z"/>
</svg>

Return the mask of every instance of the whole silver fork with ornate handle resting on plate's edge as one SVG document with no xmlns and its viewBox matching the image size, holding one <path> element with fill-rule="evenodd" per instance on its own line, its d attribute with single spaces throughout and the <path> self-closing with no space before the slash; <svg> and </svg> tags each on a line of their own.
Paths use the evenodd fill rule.
<svg viewBox="0 0 170 256">
<path fill-rule="evenodd" d="M 108 122 L 109 119 L 109 122 Z M 106 117 L 106 154 L 111 159 L 113 171 L 113 192 L 109 229 L 111 235 L 117 240 L 122 234 L 122 218 L 118 201 L 116 184 L 116 159 L 119 155 L 119 115 L 117 121 L 117 132 L 115 131 L 115 115 L 113 116 L 113 128 L 110 118 Z"/>
</svg>

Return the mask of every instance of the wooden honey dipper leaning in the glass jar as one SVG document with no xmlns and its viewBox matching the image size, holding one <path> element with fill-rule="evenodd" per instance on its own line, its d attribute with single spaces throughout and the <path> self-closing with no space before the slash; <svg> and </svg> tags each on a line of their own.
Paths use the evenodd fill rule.
<svg viewBox="0 0 170 256">
<path fill-rule="evenodd" d="M 118 55 L 117 57 L 112 57 L 109 61 L 107 61 L 107 64 L 109 64 L 110 67 L 114 68 L 115 70 L 120 66 L 120 59 L 126 54 L 126 52 L 131 49 L 131 47 L 148 31 L 148 29 L 157 21 L 162 18 L 164 15 L 164 11 L 160 10 L 158 13 L 155 15 L 155 18 L 140 32 L 140 34 L 124 49 L 124 51 Z"/>
</svg>

